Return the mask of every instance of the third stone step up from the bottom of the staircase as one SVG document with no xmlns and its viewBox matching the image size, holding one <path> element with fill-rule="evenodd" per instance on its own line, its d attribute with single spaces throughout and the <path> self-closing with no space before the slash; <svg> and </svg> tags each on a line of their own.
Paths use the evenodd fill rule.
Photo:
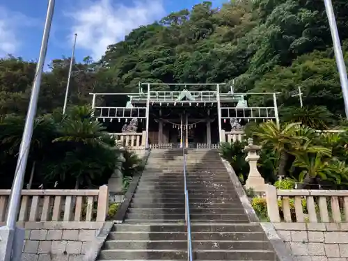
<svg viewBox="0 0 348 261">
<path fill-rule="evenodd" d="M 138 226 L 138 225 L 132 225 Z M 141 226 L 144 226 L 143 224 Z M 152 225 L 151 225 L 152 227 Z M 154 226 L 155 228 L 156 225 Z M 194 227 L 194 226 L 192 226 Z M 194 241 L 267 241 L 264 232 L 192 232 Z M 185 232 L 110 232 L 107 240 L 187 240 Z"/>
</svg>

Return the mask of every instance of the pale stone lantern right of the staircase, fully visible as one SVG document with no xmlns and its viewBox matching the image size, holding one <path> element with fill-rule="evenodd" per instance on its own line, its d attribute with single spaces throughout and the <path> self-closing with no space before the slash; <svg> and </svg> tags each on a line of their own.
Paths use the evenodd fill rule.
<svg viewBox="0 0 348 261">
<path fill-rule="evenodd" d="M 258 151 L 261 150 L 261 146 L 254 145 L 253 139 L 248 139 L 248 145 L 244 148 L 244 151 L 248 153 L 245 160 L 249 163 L 248 179 L 245 182 L 246 189 L 252 188 L 255 191 L 264 191 L 264 178 L 258 171 Z"/>
</svg>

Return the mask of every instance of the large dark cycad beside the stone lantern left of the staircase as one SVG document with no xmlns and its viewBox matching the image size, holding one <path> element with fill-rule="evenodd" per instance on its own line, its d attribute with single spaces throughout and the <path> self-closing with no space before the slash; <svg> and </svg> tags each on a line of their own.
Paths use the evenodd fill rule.
<svg viewBox="0 0 348 261">
<path fill-rule="evenodd" d="M 59 136 L 53 141 L 63 143 L 64 156 L 61 164 L 49 171 L 49 176 L 60 175 L 61 180 L 65 180 L 67 175 L 73 176 L 75 189 L 102 177 L 106 170 L 111 174 L 118 161 L 115 141 L 108 137 L 109 134 L 91 113 L 86 106 L 72 107 L 59 123 Z"/>
</svg>

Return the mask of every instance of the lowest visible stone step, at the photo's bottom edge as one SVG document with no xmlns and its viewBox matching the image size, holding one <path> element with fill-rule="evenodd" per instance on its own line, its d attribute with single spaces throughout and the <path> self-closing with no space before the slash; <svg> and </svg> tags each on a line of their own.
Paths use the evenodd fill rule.
<svg viewBox="0 0 348 261">
<path fill-rule="evenodd" d="M 187 251 L 107 249 L 100 252 L 104 260 L 187 260 Z M 277 260 L 274 251 L 267 250 L 196 250 L 195 260 Z"/>
</svg>

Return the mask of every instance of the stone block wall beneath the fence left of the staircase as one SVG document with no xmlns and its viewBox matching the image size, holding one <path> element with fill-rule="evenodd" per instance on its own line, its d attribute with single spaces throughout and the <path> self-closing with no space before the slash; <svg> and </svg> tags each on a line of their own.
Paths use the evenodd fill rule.
<svg viewBox="0 0 348 261">
<path fill-rule="evenodd" d="M 82 261 L 104 222 L 26 222 L 22 261 Z"/>
</svg>

